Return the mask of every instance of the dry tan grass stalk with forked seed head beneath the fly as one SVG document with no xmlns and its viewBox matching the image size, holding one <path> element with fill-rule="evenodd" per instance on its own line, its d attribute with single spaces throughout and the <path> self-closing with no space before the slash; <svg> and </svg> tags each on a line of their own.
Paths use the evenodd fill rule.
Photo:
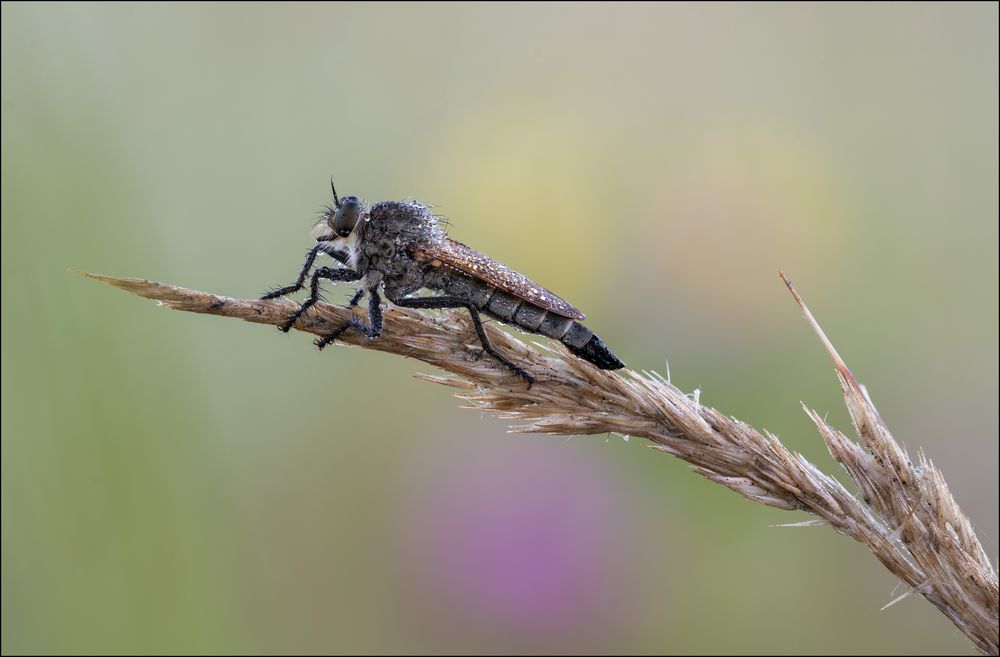
<svg viewBox="0 0 1000 657">
<path fill-rule="evenodd" d="M 239 317 L 279 325 L 297 308 L 290 300 L 251 301 L 134 278 L 86 274 L 176 310 Z M 936 606 L 982 652 L 997 654 L 998 592 L 993 564 L 941 472 L 923 454 L 914 464 L 892 437 L 875 406 L 782 274 L 796 301 L 833 358 L 855 432 L 848 439 L 815 411 L 815 422 L 833 457 L 861 496 L 789 451 L 770 433 L 702 406 L 655 373 L 599 370 L 566 357 L 559 348 L 534 348 L 487 326 L 494 346 L 536 376 L 530 388 L 489 358 L 461 312 L 385 312 L 384 333 L 368 340 L 348 331 L 341 342 L 417 358 L 451 376 L 418 375 L 456 388 L 458 397 L 483 411 L 521 424 L 515 431 L 550 434 L 615 432 L 642 436 L 650 445 L 692 465 L 702 476 L 740 495 L 779 509 L 816 515 L 868 546 L 909 589 Z M 353 311 L 319 303 L 295 328 L 322 335 Z M 815 523 L 810 523 L 815 524 Z M 890 603 L 892 604 L 892 603 Z"/>
</svg>

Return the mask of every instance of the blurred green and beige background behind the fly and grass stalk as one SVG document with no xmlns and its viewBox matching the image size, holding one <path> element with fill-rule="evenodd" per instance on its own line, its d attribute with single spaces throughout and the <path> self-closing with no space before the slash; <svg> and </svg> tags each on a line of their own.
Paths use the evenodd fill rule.
<svg viewBox="0 0 1000 657">
<path fill-rule="evenodd" d="M 2 11 L 3 652 L 973 652 L 641 441 L 69 270 L 259 294 L 333 174 L 840 476 L 781 267 L 996 554 L 996 4 Z"/>
</svg>

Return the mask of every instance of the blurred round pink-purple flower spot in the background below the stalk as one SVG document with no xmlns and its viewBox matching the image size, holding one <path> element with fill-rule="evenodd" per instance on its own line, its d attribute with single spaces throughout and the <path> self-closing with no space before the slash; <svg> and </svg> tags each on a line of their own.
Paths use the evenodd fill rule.
<svg viewBox="0 0 1000 657">
<path fill-rule="evenodd" d="M 562 441 L 474 447 L 418 468 L 409 491 L 398 558 L 422 611 L 534 639 L 617 625 L 634 532 L 610 466 Z"/>
</svg>

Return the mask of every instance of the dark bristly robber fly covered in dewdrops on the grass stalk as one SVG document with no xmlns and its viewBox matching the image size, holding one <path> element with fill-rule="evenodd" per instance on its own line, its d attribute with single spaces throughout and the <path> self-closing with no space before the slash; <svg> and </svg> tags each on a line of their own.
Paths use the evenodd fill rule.
<svg viewBox="0 0 1000 657">
<path fill-rule="evenodd" d="M 339 198 L 332 180 L 330 188 L 333 206 L 326 207 L 317 223 L 316 245 L 306 255 L 295 282 L 263 298 L 274 299 L 302 289 L 321 253 L 344 266 L 318 267 L 312 272 L 309 298 L 279 327 L 281 331 L 288 332 L 319 300 L 321 281 L 359 281 L 350 305 L 356 306 L 368 294 L 368 324 L 348 320 L 316 341 L 320 349 L 351 328 L 372 339 L 379 337 L 382 288 L 389 301 L 403 308 L 465 308 L 472 315 L 483 351 L 529 384 L 534 377 L 490 345 L 480 313 L 555 338 L 601 369 L 625 366 L 593 331 L 576 321 L 583 319 L 582 312 L 526 276 L 450 239 L 427 206 L 417 201 L 381 201 L 369 206 L 356 196 Z M 436 294 L 414 296 L 421 289 Z"/>
</svg>

